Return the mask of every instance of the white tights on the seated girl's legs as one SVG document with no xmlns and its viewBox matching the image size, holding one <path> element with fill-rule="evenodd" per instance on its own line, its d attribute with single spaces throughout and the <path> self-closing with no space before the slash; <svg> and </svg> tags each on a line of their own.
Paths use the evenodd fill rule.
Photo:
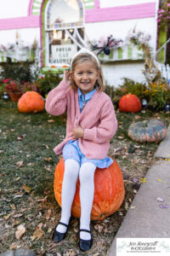
<svg viewBox="0 0 170 256">
<path fill-rule="evenodd" d="M 83 163 L 80 167 L 77 160 L 65 160 L 65 174 L 61 194 L 61 218 L 60 222 L 69 223 L 71 218 L 71 206 L 76 192 L 77 177 L 80 180 L 81 218 L 80 229 L 90 230 L 90 214 L 94 201 L 94 172 L 96 166 L 90 162 Z M 65 233 L 66 227 L 57 226 L 57 231 Z M 88 232 L 81 232 L 80 237 L 84 240 L 91 238 Z"/>
</svg>

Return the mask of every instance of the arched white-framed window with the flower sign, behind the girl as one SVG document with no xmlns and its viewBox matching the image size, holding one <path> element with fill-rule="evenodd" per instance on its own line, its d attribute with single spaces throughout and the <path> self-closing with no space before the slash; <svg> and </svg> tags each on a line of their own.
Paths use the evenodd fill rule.
<svg viewBox="0 0 170 256">
<path fill-rule="evenodd" d="M 80 0 L 51 0 L 45 10 L 46 67 L 71 62 L 84 46 L 83 5 Z"/>
</svg>

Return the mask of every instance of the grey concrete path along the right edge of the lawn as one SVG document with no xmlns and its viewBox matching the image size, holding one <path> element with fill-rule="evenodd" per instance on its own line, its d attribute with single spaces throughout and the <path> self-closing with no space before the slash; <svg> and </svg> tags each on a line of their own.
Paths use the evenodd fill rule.
<svg viewBox="0 0 170 256">
<path fill-rule="evenodd" d="M 170 126 L 154 157 L 162 160 L 157 160 L 148 170 L 146 182 L 141 184 L 133 199 L 134 208 L 128 209 L 108 256 L 116 256 L 118 237 L 170 237 Z"/>
</svg>

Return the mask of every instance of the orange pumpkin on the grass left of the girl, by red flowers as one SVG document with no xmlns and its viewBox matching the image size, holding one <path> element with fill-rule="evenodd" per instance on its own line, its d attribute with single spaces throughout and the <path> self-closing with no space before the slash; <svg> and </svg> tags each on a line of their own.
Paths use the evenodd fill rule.
<svg viewBox="0 0 170 256">
<path fill-rule="evenodd" d="M 45 102 L 42 96 L 36 91 L 27 91 L 18 102 L 18 109 L 22 113 L 42 112 Z"/>
</svg>

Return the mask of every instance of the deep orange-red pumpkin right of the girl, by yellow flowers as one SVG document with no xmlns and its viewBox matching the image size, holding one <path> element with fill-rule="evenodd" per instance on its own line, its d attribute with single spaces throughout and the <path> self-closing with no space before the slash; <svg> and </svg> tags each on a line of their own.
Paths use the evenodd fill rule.
<svg viewBox="0 0 170 256">
<path fill-rule="evenodd" d="M 119 101 L 119 110 L 122 112 L 137 113 L 141 108 L 139 97 L 133 94 L 124 95 Z"/>
</svg>

